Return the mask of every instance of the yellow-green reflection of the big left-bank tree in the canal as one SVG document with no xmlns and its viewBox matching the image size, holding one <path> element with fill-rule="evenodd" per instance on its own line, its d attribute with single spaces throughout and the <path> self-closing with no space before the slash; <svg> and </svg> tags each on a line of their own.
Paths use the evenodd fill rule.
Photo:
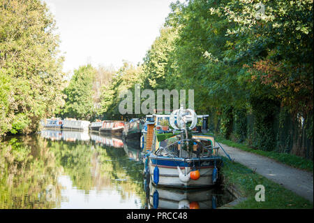
<svg viewBox="0 0 314 223">
<path fill-rule="evenodd" d="M 0 146 L 0 208 L 59 206 L 63 169 L 47 141 L 25 136 Z"/>
</svg>

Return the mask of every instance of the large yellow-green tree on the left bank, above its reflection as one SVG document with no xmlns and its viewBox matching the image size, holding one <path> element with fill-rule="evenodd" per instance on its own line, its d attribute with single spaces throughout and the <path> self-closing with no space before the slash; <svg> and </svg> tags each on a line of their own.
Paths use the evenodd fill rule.
<svg viewBox="0 0 314 223">
<path fill-rule="evenodd" d="M 63 57 L 42 1 L 0 2 L 0 136 L 29 134 L 62 106 Z"/>
</svg>

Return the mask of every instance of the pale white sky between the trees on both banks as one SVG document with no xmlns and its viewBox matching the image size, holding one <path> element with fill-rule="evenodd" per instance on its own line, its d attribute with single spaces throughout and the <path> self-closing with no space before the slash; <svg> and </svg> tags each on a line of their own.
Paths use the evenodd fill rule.
<svg viewBox="0 0 314 223">
<path fill-rule="evenodd" d="M 173 0 L 44 0 L 57 22 L 63 71 L 142 62 Z M 70 72 L 72 73 L 72 72 Z"/>
</svg>

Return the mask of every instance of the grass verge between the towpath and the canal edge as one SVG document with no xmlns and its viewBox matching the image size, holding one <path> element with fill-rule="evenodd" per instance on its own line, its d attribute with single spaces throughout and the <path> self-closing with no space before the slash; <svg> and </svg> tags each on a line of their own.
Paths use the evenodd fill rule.
<svg viewBox="0 0 314 223">
<path fill-rule="evenodd" d="M 232 208 L 235 209 L 285 209 L 285 208 L 313 208 L 313 203 L 303 197 L 285 189 L 276 182 L 264 178 L 262 175 L 253 173 L 246 166 L 237 162 L 232 162 L 223 157 L 222 174 L 225 179 L 225 186 L 234 185 L 240 192 L 241 196 L 247 197 Z M 255 201 L 256 185 L 264 185 L 265 201 Z"/>
</svg>

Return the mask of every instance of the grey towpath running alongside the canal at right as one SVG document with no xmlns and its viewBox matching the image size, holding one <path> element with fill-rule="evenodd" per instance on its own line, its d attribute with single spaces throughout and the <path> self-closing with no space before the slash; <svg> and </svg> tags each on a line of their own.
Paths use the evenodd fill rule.
<svg viewBox="0 0 314 223">
<path fill-rule="evenodd" d="M 256 169 L 256 173 L 283 185 L 313 203 L 313 173 L 281 164 L 259 154 L 232 148 L 222 143 L 220 145 L 234 161 L 252 170 Z M 220 154 L 226 157 L 225 152 L 220 150 Z"/>
</svg>

